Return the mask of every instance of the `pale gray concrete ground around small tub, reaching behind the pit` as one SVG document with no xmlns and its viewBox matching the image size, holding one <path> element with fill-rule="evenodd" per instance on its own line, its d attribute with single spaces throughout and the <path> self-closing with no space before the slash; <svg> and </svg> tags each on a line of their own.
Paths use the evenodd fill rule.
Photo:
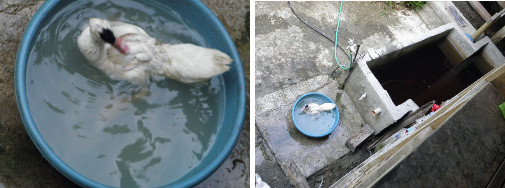
<svg viewBox="0 0 505 188">
<path fill-rule="evenodd" d="M 303 20 L 335 39 L 340 3 L 291 5 Z M 429 2 L 420 10 L 411 10 L 385 2 L 344 2 L 338 44 L 346 53 L 350 46 L 360 44 L 358 57 L 387 54 L 454 22 L 446 6 L 454 5 Z M 370 156 L 363 146 L 353 153 L 343 143 L 356 134 L 367 134 L 367 125 L 361 124 L 349 96 L 339 89 L 348 71 L 337 68 L 334 43 L 300 22 L 287 2 L 256 2 L 255 10 L 256 172 L 272 187 L 328 187 Z M 475 31 L 471 24 L 462 30 Z M 348 64 L 343 52 L 337 53 L 339 62 Z M 328 95 L 341 111 L 337 129 L 327 138 L 306 137 L 291 120 L 292 105 L 308 92 Z"/>
</svg>

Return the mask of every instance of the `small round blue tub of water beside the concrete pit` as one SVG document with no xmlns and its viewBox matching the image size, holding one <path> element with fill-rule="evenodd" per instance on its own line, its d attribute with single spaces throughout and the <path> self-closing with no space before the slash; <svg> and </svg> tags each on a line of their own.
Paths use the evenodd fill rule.
<svg viewBox="0 0 505 188">
<path fill-rule="evenodd" d="M 296 100 L 291 112 L 291 118 L 295 127 L 304 135 L 309 137 L 328 136 L 338 125 L 339 112 L 335 107 L 333 110 L 320 112 L 318 114 L 307 114 L 301 112 L 305 104 L 313 102 L 316 104 L 333 103 L 328 96 L 321 93 L 307 93 Z"/>
</svg>

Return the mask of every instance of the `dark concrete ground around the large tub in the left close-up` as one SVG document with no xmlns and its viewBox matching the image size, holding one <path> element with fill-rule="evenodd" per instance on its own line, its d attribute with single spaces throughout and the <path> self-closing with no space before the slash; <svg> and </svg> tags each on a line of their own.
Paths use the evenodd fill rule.
<svg viewBox="0 0 505 188">
<path fill-rule="evenodd" d="M 203 2 L 217 15 L 235 41 L 246 83 L 249 84 L 249 1 Z M 35 0 L 0 0 L 0 187 L 77 187 L 56 171 L 35 148 L 16 105 L 14 64 L 17 47 L 30 18 L 42 3 Z M 249 95 L 247 97 L 249 100 Z M 248 112 L 249 106 L 240 138 L 231 154 L 216 172 L 197 187 L 249 187 Z"/>
</svg>

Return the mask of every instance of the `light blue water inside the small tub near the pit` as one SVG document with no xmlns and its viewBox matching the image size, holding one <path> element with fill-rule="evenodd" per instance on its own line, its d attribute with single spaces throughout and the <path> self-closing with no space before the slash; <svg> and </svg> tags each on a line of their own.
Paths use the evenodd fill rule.
<svg viewBox="0 0 505 188">
<path fill-rule="evenodd" d="M 309 103 L 323 104 L 328 101 L 316 97 L 302 98 L 295 107 L 294 118 L 296 125 L 309 135 L 323 135 L 328 133 L 335 124 L 337 115 L 335 109 L 330 111 L 323 111 L 317 114 L 308 114 L 302 112 L 303 106 Z"/>
</svg>

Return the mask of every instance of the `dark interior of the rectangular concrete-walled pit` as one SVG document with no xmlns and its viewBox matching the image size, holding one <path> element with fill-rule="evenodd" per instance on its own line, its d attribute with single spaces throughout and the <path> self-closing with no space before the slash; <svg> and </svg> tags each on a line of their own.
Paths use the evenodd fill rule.
<svg viewBox="0 0 505 188">
<path fill-rule="evenodd" d="M 452 66 L 450 62 L 454 60 L 435 42 L 403 55 L 384 57 L 390 61 L 370 70 L 395 105 L 412 99 L 421 106 L 432 100 L 446 101 L 483 76 L 475 66 L 478 53 Z"/>
</svg>

